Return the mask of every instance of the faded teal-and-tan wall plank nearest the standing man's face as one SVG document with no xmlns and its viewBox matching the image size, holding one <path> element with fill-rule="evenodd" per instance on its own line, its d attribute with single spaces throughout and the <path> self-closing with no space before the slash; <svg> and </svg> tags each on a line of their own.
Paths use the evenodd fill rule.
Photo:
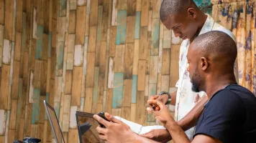
<svg viewBox="0 0 256 143">
<path fill-rule="evenodd" d="M 152 19 L 152 39 L 151 39 L 151 55 L 157 56 L 158 53 L 154 51 L 158 51 L 159 47 L 159 33 L 160 32 L 160 20 Z"/>
</svg>

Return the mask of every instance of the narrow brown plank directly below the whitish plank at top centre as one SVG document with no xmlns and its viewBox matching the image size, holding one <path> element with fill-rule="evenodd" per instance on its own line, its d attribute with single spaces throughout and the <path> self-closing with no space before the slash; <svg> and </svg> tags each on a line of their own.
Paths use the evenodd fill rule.
<svg viewBox="0 0 256 143">
<path fill-rule="evenodd" d="M 109 41 L 109 56 L 114 57 L 116 54 L 116 26 L 111 26 Z"/>
</svg>

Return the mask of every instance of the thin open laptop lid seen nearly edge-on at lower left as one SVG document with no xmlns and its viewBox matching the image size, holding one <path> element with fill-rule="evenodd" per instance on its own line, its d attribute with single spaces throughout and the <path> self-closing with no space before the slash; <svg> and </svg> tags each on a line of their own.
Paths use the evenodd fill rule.
<svg viewBox="0 0 256 143">
<path fill-rule="evenodd" d="M 50 121 L 50 125 L 52 127 L 52 132 L 54 133 L 55 140 L 58 143 L 65 143 L 64 138 L 63 138 L 63 133 L 61 132 L 60 129 L 60 124 L 58 122 L 58 118 L 56 116 L 54 108 L 50 106 L 47 102 L 45 102 L 45 111 L 47 112 L 47 117 Z"/>
</svg>

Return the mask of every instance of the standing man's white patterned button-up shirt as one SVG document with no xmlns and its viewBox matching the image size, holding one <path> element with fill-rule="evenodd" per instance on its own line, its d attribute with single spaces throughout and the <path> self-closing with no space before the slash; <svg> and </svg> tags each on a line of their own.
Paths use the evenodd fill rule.
<svg viewBox="0 0 256 143">
<path fill-rule="evenodd" d="M 232 34 L 231 31 L 228 29 L 225 29 L 224 26 L 221 26 L 220 24 L 217 24 L 214 22 L 214 19 L 211 18 L 207 14 L 207 19 L 202 27 L 200 34 L 204 34 L 208 31 L 223 31 L 229 36 L 232 37 L 232 39 L 235 40 L 234 34 Z M 199 34 L 199 35 L 200 35 Z M 176 87 L 178 87 L 177 91 L 177 97 L 176 97 L 176 104 L 175 104 L 175 120 L 179 121 L 183 117 L 185 117 L 186 114 L 188 114 L 189 111 L 195 106 L 194 99 L 196 97 L 196 94 L 199 94 L 200 97 L 204 96 L 205 92 L 192 92 L 191 87 L 192 84 L 190 82 L 189 73 L 187 71 L 188 67 L 188 61 L 187 61 L 187 53 L 188 53 L 188 46 L 191 44 L 189 39 L 186 39 L 182 42 L 180 46 L 180 56 L 179 56 L 179 79 L 176 84 Z M 186 134 L 189 139 L 192 139 L 193 137 L 193 131 L 194 127 L 186 131 Z"/>
</svg>

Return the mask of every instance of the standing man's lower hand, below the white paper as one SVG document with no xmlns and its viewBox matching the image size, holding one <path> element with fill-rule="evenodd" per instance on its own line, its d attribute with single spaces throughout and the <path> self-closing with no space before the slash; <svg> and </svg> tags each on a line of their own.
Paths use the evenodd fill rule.
<svg viewBox="0 0 256 143">
<path fill-rule="evenodd" d="M 170 139 L 172 139 L 167 129 L 152 129 L 146 134 L 141 134 L 141 136 L 147 137 L 148 139 L 152 139 L 157 142 L 168 142 Z"/>
</svg>

